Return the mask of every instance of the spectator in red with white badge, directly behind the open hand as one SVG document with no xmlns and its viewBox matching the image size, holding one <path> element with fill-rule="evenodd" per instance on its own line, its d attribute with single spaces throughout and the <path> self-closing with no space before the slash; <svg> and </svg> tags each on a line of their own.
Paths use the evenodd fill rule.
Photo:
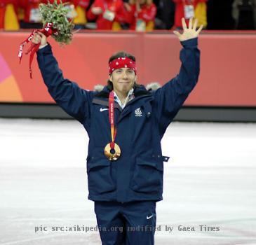
<svg viewBox="0 0 256 245">
<path fill-rule="evenodd" d="M 189 19 L 195 18 L 195 9 L 198 3 L 206 3 L 207 0 L 173 0 L 175 2 L 175 29 L 182 29 L 182 18 L 185 18 L 187 25 Z"/>
</svg>

